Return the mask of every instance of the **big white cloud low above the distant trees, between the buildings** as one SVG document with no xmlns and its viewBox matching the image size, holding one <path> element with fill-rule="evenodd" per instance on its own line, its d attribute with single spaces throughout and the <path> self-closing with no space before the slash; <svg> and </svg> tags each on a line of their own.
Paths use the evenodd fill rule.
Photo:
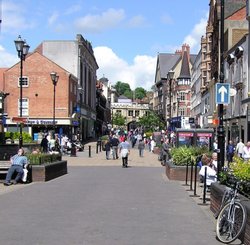
<svg viewBox="0 0 250 245">
<path fill-rule="evenodd" d="M 113 85 L 117 81 L 129 83 L 131 89 L 143 87 L 150 90 L 154 85 L 156 57 L 137 55 L 129 65 L 108 47 L 96 47 L 94 53 L 99 65 L 98 78 L 105 76 Z"/>
</svg>

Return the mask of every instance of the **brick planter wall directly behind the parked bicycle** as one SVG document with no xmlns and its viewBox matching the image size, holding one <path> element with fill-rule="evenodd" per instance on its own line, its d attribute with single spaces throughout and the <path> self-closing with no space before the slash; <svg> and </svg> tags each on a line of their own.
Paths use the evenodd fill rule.
<svg viewBox="0 0 250 245">
<path fill-rule="evenodd" d="M 210 193 L 210 210 L 213 213 L 218 212 L 223 197 L 225 186 L 219 183 L 212 183 Z M 240 195 L 241 203 L 247 210 L 247 223 L 244 233 L 240 238 L 245 245 L 250 245 L 250 200 Z"/>
</svg>

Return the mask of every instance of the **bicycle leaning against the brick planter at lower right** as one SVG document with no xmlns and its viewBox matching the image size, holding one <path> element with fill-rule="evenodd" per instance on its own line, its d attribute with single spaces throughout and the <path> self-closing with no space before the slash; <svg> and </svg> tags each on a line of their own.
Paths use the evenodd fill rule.
<svg viewBox="0 0 250 245">
<path fill-rule="evenodd" d="M 234 188 L 227 187 L 222 198 L 221 207 L 215 215 L 215 218 L 217 218 L 216 237 L 223 243 L 235 241 L 246 225 L 247 212 L 238 196 L 239 187 L 239 181 L 236 182 Z"/>
</svg>

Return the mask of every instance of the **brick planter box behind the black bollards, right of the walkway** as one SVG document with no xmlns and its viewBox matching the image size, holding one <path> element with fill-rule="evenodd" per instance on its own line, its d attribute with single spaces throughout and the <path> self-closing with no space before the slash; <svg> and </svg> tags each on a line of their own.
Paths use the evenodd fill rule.
<svg viewBox="0 0 250 245">
<path fill-rule="evenodd" d="M 171 161 L 166 163 L 166 175 L 170 180 L 186 180 L 186 166 L 174 165 Z M 193 180 L 194 180 L 195 166 L 193 166 Z M 191 179 L 191 166 L 188 166 L 187 180 Z M 199 181 L 199 168 L 197 168 L 197 181 Z"/>
</svg>

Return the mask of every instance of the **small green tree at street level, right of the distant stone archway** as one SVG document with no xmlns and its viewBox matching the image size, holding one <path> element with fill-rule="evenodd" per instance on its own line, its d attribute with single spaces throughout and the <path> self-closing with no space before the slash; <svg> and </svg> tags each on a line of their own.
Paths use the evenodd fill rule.
<svg viewBox="0 0 250 245">
<path fill-rule="evenodd" d="M 164 122 L 161 120 L 159 115 L 153 111 L 149 111 L 143 117 L 139 118 L 138 124 L 143 126 L 146 131 L 164 129 Z"/>
</svg>

